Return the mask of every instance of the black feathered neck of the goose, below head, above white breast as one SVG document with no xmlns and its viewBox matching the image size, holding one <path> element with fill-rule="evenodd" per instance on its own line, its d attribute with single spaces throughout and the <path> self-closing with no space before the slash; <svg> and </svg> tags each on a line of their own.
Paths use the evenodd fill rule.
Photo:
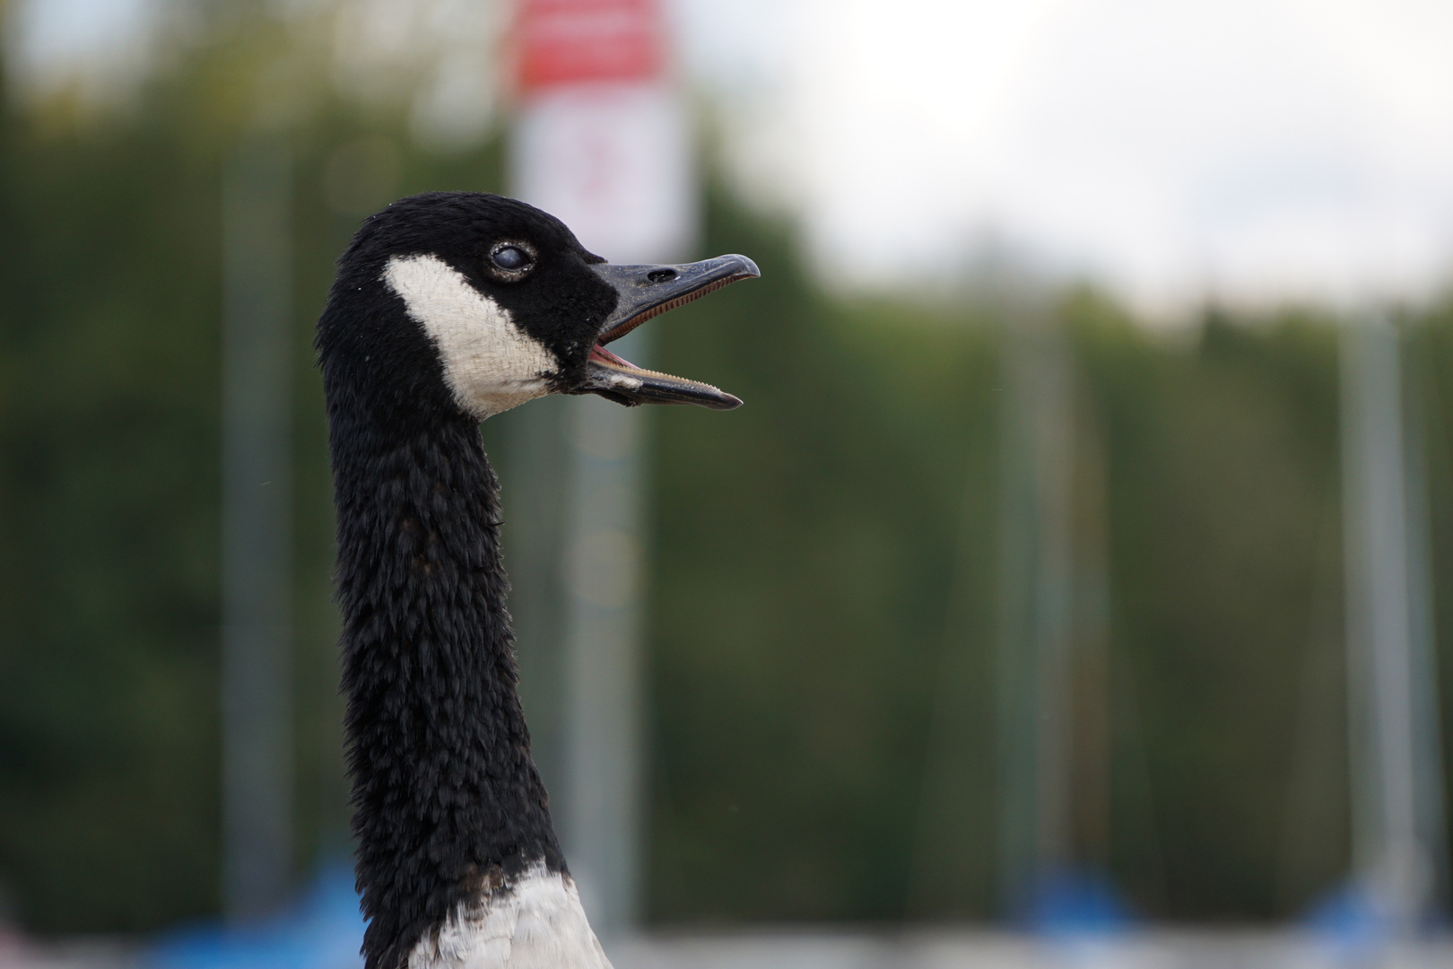
<svg viewBox="0 0 1453 969">
<path fill-rule="evenodd" d="M 516 692 L 478 426 L 330 411 L 363 952 L 395 969 L 461 904 L 564 860 Z"/>
</svg>

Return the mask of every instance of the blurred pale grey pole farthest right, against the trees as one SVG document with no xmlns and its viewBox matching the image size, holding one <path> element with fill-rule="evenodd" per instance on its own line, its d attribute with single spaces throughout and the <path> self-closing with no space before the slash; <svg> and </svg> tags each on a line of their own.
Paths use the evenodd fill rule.
<svg viewBox="0 0 1453 969">
<path fill-rule="evenodd" d="M 1398 934 L 1430 915 L 1443 860 L 1427 519 L 1417 421 L 1404 420 L 1401 334 L 1343 330 L 1343 533 L 1353 857 Z"/>
</svg>

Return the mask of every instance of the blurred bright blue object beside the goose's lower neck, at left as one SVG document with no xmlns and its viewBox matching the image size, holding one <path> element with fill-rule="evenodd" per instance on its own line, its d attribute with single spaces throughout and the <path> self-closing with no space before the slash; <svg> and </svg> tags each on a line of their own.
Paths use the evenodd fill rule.
<svg viewBox="0 0 1453 969">
<path fill-rule="evenodd" d="M 355 969 L 363 915 L 347 863 L 324 866 L 282 912 L 251 925 L 205 924 L 163 936 L 141 965 L 154 969 Z"/>
</svg>

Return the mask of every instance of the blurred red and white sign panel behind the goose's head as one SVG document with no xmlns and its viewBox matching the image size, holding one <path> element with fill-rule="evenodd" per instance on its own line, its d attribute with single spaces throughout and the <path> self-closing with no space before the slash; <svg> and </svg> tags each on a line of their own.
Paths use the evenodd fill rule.
<svg viewBox="0 0 1453 969">
<path fill-rule="evenodd" d="M 667 41 L 657 0 L 519 0 L 513 192 L 618 263 L 684 259 L 695 232 Z"/>
</svg>

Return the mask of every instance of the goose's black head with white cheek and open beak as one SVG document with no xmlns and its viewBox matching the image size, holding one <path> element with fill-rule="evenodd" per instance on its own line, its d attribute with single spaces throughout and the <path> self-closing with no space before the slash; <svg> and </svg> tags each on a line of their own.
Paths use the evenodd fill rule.
<svg viewBox="0 0 1453 969">
<path fill-rule="evenodd" d="M 731 394 L 638 368 L 607 344 L 757 275 L 745 256 L 613 264 L 523 202 L 416 195 L 371 216 L 339 260 L 320 360 L 330 385 L 375 415 L 484 420 L 546 394 L 731 410 L 741 405 Z"/>
</svg>

